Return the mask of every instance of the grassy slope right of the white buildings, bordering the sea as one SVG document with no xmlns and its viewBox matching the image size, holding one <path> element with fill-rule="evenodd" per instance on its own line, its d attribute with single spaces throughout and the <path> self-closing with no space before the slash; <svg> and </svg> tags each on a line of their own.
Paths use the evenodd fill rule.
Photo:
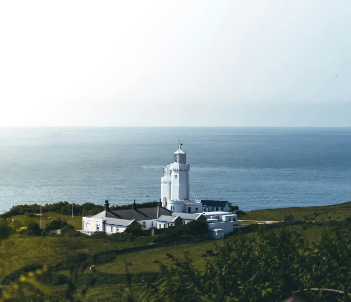
<svg viewBox="0 0 351 302">
<path fill-rule="evenodd" d="M 325 221 L 329 217 L 334 220 L 344 220 L 351 217 L 351 201 L 325 206 L 260 209 L 245 213 L 246 215 L 240 216 L 239 220 L 282 221 L 288 215 L 294 219 L 306 221 Z"/>
</svg>

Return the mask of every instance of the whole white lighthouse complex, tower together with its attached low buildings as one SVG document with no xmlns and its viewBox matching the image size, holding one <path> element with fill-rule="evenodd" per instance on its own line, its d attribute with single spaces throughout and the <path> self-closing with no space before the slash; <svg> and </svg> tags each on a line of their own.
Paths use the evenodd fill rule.
<svg viewBox="0 0 351 302">
<path fill-rule="evenodd" d="M 144 229 L 165 228 L 186 224 L 191 220 L 207 220 L 209 229 L 222 229 L 225 234 L 233 231 L 237 215 L 229 212 L 229 202 L 222 200 L 191 200 L 189 186 L 190 165 L 186 162 L 183 143 L 178 141 L 174 162 L 164 168 L 161 177 L 161 198 L 157 207 L 105 210 L 93 217 L 83 217 L 83 231 L 123 232 L 129 224 L 139 223 Z"/>
</svg>

